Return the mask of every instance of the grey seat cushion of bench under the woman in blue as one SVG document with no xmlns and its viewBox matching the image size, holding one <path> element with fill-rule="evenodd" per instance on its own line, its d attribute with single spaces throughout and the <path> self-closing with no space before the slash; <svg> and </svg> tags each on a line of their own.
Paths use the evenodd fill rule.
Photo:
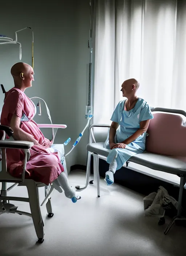
<svg viewBox="0 0 186 256">
<path fill-rule="evenodd" d="M 110 152 L 109 149 L 104 148 L 104 142 L 90 143 L 87 145 L 86 149 L 105 157 L 107 157 Z M 157 171 L 172 174 L 186 174 L 186 157 L 159 155 L 146 151 L 132 156 L 129 162 L 140 164 Z"/>
</svg>

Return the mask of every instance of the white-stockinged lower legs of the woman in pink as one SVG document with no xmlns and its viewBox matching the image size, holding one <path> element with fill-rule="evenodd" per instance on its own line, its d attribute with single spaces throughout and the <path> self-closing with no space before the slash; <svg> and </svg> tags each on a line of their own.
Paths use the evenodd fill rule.
<svg viewBox="0 0 186 256">
<path fill-rule="evenodd" d="M 76 203 L 77 199 L 80 199 L 81 197 L 76 197 L 76 192 L 72 190 L 68 183 L 68 178 L 66 177 L 66 174 L 64 172 L 61 172 L 61 174 L 58 176 L 56 180 L 53 181 L 54 188 L 58 191 L 60 191 L 59 186 L 64 190 L 65 196 L 70 198 L 73 203 Z"/>
</svg>

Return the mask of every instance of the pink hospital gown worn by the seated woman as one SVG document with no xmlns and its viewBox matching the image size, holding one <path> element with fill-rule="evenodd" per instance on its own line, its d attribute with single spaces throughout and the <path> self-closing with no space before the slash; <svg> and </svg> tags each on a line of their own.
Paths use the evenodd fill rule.
<svg viewBox="0 0 186 256">
<path fill-rule="evenodd" d="M 51 142 L 46 139 L 38 128 L 33 117 L 35 105 L 20 89 L 12 88 L 5 94 L 0 123 L 10 127 L 12 116 L 16 114 L 21 119 L 20 128 L 33 136 L 40 145 L 30 149 L 30 159 L 27 163 L 25 178 L 42 182 L 46 185 L 56 180 L 64 167 L 58 153 L 50 153 Z M 7 149 L 7 168 L 13 177 L 21 177 L 25 154 L 21 149 Z"/>
</svg>

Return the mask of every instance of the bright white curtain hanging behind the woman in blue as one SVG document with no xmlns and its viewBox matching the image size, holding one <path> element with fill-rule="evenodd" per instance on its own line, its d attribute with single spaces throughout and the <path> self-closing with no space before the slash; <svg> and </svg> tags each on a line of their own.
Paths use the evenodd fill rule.
<svg viewBox="0 0 186 256">
<path fill-rule="evenodd" d="M 150 106 L 186 111 L 186 1 L 94 1 L 94 123 L 109 123 L 121 84 Z"/>
</svg>

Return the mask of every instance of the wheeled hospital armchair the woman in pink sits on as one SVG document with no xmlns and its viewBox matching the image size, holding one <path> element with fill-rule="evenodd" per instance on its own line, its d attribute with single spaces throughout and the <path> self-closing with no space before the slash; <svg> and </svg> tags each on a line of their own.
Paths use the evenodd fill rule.
<svg viewBox="0 0 186 256">
<path fill-rule="evenodd" d="M 39 128 L 66 128 L 66 125 L 58 124 L 38 124 Z M 29 149 L 33 146 L 32 142 L 29 141 L 15 141 L 11 139 L 6 139 L 6 135 L 12 136 L 13 130 L 10 127 L 0 124 L 0 132 L 2 132 L 3 137 L 0 140 L 0 183 L 2 183 L 0 192 L 0 215 L 2 213 L 18 213 L 19 215 L 26 215 L 32 217 L 36 235 L 38 237 L 37 242 L 43 243 L 44 241 L 44 223 L 40 211 L 40 201 L 39 201 L 39 188 L 45 187 L 45 199 L 41 206 L 46 203 L 48 217 L 53 217 L 52 205 L 51 205 L 51 193 L 53 191 L 53 186 L 45 185 L 41 182 L 35 182 L 31 179 L 25 179 L 25 170 L 27 161 L 30 157 Z M 56 131 L 57 132 L 57 131 Z M 53 137 L 54 139 L 54 137 Z M 21 179 L 12 177 L 7 170 L 6 162 L 6 148 L 16 148 L 22 149 L 25 152 L 24 169 Z M 7 188 L 7 183 L 14 183 L 11 187 Z M 17 186 L 26 186 L 28 190 L 28 197 L 13 197 L 8 196 L 8 192 Z M 48 201 L 47 201 L 48 200 Z M 30 205 L 31 213 L 23 212 L 17 210 L 17 207 L 10 204 L 9 201 L 24 201 L 28 202 Z"/>
</svg>

